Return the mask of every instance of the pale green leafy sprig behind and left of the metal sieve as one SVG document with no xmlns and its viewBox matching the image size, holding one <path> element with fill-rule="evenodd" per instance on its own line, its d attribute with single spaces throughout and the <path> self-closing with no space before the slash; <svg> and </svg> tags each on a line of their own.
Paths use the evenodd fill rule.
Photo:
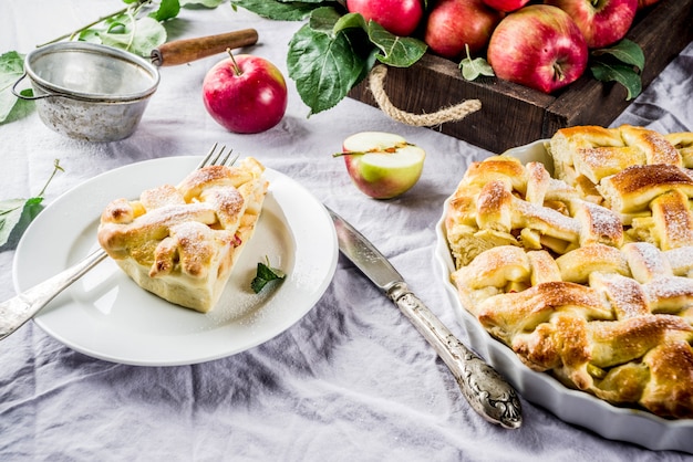
<svg viewBox="0 0 693 462">
<path fill-rule="evenodd" d="M 126 4 L 111 14 L 96 19 L 76 31 L 59 36 L 43 46 L 62 40 L 102 43 L 148 56 L 153 49 L 166 42 L 164 24 L 178 17 L 185 7 L 200 6 L 215 9 L 228 0 L 123 0 Z M 9 51 L 0 55 L 0 124 L 18 120 L 34 108 L 34 103 L 19 99 L 12 94 L 12 85 L 23 75 L 24 54 Z M 32 95 L 31 90 L 22 94 Z"/>
</svg>

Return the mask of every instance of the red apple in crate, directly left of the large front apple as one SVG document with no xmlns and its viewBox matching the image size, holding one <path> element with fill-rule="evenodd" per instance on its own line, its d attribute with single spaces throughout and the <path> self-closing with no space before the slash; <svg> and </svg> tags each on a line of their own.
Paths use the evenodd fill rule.
<svg viewBox="0 0 693 462">
<path fill-rule="evenodd" d="M 439 0 L 426 21 L 424 42 L 443 57 L 482 52 L 504 13 L 488 8 L 483 0 Z"/>
</svg>

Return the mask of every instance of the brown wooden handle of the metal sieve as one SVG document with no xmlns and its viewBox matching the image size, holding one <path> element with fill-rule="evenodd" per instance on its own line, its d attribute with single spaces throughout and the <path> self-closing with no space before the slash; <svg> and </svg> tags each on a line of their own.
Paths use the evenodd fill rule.
<svg viewBox="0 0 693 462">
<path fill-rule="evenodd" d="M 157 66 L 186 64 L 213 54 L 223 53 L 227 49 L 234 50 L 254 45 L 257 41 L 258 31 L 255 29 L 244 29 L 198 39 L 175 40 L 153 50 L 151 59 L 152 63 Z"/>
</svg>

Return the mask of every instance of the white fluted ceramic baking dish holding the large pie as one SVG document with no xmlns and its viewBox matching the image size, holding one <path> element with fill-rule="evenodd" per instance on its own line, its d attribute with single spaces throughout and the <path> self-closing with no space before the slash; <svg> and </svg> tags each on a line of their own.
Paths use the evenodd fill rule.
<svg viewBox="0 0 693 462">
<path fill-rule="evenodd" d="M 541 161 L 552 171 L 552 160 L 544 140 L 509 149 L 505 155 L 528 161 Z M 693 453 L 693 420 L 666 420 L 650 412 L 619 408 L 583 391 L 565 387 L 548 374 L 525 366 L 515 353 L 493 338 L 459 302 L 457 290 L 449 280 L 455 270 L 445 238 L 444 219 L 449 204 L 445 201 L 443 216 L 436 224 L 436 270 L 455 315 L 469 336 L 469 346 L 500 372 L 523 398 L 539 405 L 565 422 L 585 427 L 603 438 L 640 444 L 651 450 L 678 450 Z"/>
</svg>

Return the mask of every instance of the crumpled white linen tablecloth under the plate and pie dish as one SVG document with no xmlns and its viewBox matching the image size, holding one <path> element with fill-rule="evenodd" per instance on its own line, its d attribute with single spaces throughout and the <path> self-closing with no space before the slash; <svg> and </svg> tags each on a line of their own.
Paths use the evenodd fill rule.
<svg viewBox="0 0 693 462">
<path fill-rule="evenodd" d="M 122 6 L 3 1 L 0 52 L 28 53 Z M 225 4 L 182 11 L 169 24 L 169 39 L 256 28 L 259 43 L 246 51 L 269 59 L 287 76 L 287 45 L 300 25 Z M 65 171 L 50 185 L 46 204 L 101 172 L 144 159 L 201 155 L 219 141 L 293 178 L 358 227 L 465 340 L 436 280 L 434 223 L 469 162 L 489 153 L 434 129 L 401 125 L 353 99 L 308 118 L 288 77 L 289 107 L 277 127 L 258 135 L 228 133 L 208 116 L 200 92 L 205 73 L 223 57 L 162 69 L 139 128 L 122 141 L 63 137 L 35 113 L 0 125 L 0 199 L 37 195 L 56 158 Z M 693 130 L 692 74 L 689 45 L 613 125 Z M 399 133 L 426 149 L 423 176 L 403 197 L 365 197 L 343 161 L 332 158 L 343 138 L 362 130 Z M 0 252 L 2 300 L 14 295 L 15 243 Z M 224 359 L 175 367 L 113 364 L 73 351 L 33 323 L 0 344 L 2 461 L 692 459 L 603 439 L 524 399 L 523 407 L 519 430 L 483 420 L 423 337 L 342 258 L 307 316 L 263 345 Z"/>
</svg>

